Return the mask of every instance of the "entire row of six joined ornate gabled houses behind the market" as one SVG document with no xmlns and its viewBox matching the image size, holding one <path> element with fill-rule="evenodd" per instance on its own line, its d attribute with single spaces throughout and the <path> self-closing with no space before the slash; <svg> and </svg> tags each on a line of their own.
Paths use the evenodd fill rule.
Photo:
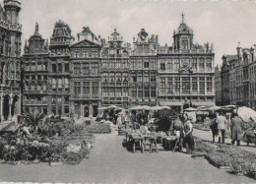
<svg viewBox="0 0 256 184">
<path fill-rule="evenodd" d="M 183 18 L 183 17 L 182 17 Z M 50 43 L 38 25 L 25 45 L 23 108 L 44 114 L 96 117 L 101 106 L 168 105 L 182 111 L 215 104 L 213 46 L 194 44 L 194 33 L 182 23 L 172 46 L 142 29 L 133 46 L 116 29 L 108 40 L 85 27 L 72 36 L 64 22 L 55 24 Z"/>
</svg>

